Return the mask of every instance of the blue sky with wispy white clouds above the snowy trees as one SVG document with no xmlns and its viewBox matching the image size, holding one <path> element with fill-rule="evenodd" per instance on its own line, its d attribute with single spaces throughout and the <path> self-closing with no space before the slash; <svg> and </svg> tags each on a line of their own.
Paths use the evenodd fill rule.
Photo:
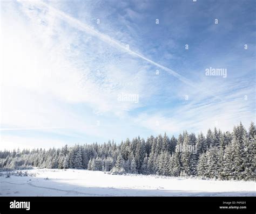
<svg viewBox="0 0 256 214">
<path fill-rule="evenodd" d="M 255 4 L 1 2 L 0 149 L 248 127 Z"/>
</svg>

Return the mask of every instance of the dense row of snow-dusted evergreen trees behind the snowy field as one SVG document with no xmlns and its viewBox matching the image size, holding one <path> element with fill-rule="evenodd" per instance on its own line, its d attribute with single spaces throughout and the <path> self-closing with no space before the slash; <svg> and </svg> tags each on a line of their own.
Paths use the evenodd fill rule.
<svg viewBox="0 0 256 214">
<path fill-rule="evenodd" d="M 240 123 L 233 132 L 214 128 L 207 135 L 188 134 L 126 139 L 119 145 L 75 145 L 63 148 L 0 151 L 4 170 L 39 168 L 76 168 L 102 170 L 112 174 L 139 173 L 165 176 L 200 176 L 221 180 L 254 180 L 256 128 L 248 132 Z"/>
</svg>

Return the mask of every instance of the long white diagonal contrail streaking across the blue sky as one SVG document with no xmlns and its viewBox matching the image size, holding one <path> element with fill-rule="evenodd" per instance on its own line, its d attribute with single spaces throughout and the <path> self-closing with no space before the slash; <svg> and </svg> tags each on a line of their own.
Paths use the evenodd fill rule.
<svg viewBox="0 0 256 214">
<path fill-rule="evenodd" d="M 35 3 L 35 2 L 33 2 Z M 193 88 L 196 88 L 198 91 L 201 91 L 201 92 L 207 92 L 208 93 L 211 93 L 211 96 L 215 97 L 215 98 L 218 98 L 221 100 L 220 97 L 217 97 L 215 95 L 213 95 L 213 92 L 209 91 L 209 90 L 202 90 L 201 88 L 199 88 L 197 85 L 195 85 L 194 83 L 192 83 L 190 80 L 188 80 L 186 77 L 184 76 L 181 76 L 180 74 L 178 74 L 177 72 L 174 72 L 174 70 L 170 69 L 170 68 L 167 68 L 165 66 L 162 66 L 160 65 L 159 63 L 157 62 L 154 62 L 152 60 L 150 60 L 149 58 L 146 58 L 145 56 L 141 55 L 141 54 L 138 54 L 134 51 L 131 51 L 130 48 L 127 48 L 126 45 L 124 44 L 121 44 L 119 41 L 116 41 L 112 38 L 110 38 L 108 35 L 105 35 L 103 33 L 100 33 L 98 31 L 96 31 L 95 29 L 93 29 L 91 26 L 83 23 L 83 22 L 80 22 L 80 20 L 76 19 L 76 18 L 73 18 L 69 15 L 67 15 L 65 12 L 63 11 L 60 11 L 56 8 L 53 8 L 52 6 L 50 6 L 49 4 L 46 4 L 42 1 L 36 1 L 37 4 L 39 5 L 43 5 L 45 6 L 46 8 L 49 8 L 51 11 L 54 12 L 55 15 L 58 15 L 58 17 L 60 19 L 63 19 L 65 20 L 66 22 L 68 22 L 71 26 L 73 27 L 76 27 L 78 28 L 79 30 L 81 31 L 84 31 L 86 33 L 89 33 L 91 35 L 94 35 L 96 37 L 98 37 L 100 40 L 103 40 L 105 41 L 107 44 L 111 44 L 113 45 L 114 47 L 117 47 L 117 48 L 120 48 L 122 49 L 123 51 L 129 53 L 130 55 L 134 55 L 134 56 L 137 56 L 138 58 L 140 59 L 143 59 L 149 63 L 151 63 L 152 65 L 158 67 L 158 68 L 161 68 L 163 70 L 165 70 L 167 73 L 171 74 L 172 76 L 176 77 L 178 80 L 180 80 L 181 82 L 187 84 L 187 85 L 190 85 L 191 87 Z"/>
</svg>

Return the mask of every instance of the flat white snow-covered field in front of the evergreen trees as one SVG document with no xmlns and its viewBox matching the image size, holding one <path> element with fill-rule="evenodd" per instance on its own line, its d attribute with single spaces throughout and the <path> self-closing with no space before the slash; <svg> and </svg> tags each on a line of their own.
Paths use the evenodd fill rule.
<svg viewBox="0 0 256 214">
<path fill-rule="evenodd" d="M 0 196 L 256 196 L 252 181 L 109 175 L 77 169 L 27 171 L 36 176 L 0 176 Z"/>
</svg>

